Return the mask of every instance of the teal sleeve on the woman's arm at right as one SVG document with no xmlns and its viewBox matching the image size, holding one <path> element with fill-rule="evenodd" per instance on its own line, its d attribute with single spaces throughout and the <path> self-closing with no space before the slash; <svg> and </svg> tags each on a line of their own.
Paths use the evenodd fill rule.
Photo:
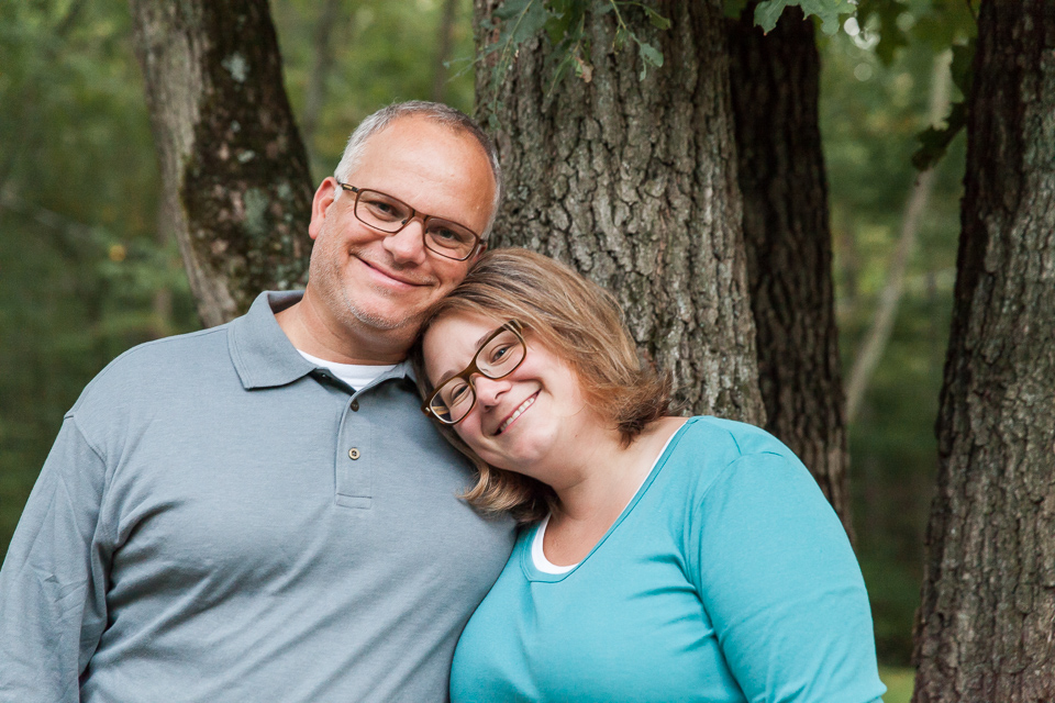
<svg viewBox="0 0 1055 703">
<path fill-rule="evenodd" d="M 698 588 L 746 699 L 878 699 L 885 688 L 860 569 L 801 462 L 777 453 L 743 456 L 697 511 Z"/>
</svg>

